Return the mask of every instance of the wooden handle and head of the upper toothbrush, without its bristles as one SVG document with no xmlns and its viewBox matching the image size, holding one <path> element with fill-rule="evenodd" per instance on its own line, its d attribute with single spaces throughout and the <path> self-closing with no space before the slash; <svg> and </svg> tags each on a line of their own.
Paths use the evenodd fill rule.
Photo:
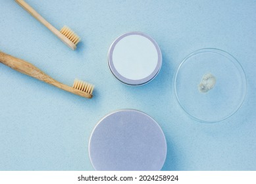
<svg viewBox="0 0 256 184">
<path fill-rule="evenodd" d="M 63 43 L 65 43 L 70 49 L 75 50 L 76 44 L 74 44 L 68 37 L 61 34 L 59 30 L 57 30 L 54 26 L 52 26 L 45 18 L 43 18 L 38 12 L 36 12 L 28 3 L 26 3 L 23 0 L 15 0 L 18 5 L 20 5 L 22 8 L 24 8 L 27 12 L 29 12 L 34 18 L 36 18 L 41 24 L 43 24 L 46 28 L 48 28 L 53 34 L 55 34 Z"/>
</svg>

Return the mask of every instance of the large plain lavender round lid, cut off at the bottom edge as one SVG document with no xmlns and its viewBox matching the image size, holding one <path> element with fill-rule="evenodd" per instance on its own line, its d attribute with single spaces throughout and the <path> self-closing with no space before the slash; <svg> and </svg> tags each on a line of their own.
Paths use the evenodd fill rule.
<svg viewBox="0 0 256 184">
<path fill-rule="evenodd" d="M 95 170 L 161 170 L 166 158 L 165 135 L 147 114 L 118 110 L 93 129 L 89 154 Z"/>
</svg>

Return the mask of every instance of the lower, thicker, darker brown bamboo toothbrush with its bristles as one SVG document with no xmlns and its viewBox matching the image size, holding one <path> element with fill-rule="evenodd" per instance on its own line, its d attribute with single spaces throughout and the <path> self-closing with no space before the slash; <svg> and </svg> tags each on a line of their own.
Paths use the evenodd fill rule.
<svg viewBox="0 0 256 184">
<path fill-rule="evenodd" d="M 33 64 L 30 64 L 25 60 L 15 58 L 11 55 L 2 53 L 1 51 L 0 62 L 22 74 L 26 74 L 38 80 L 44 81 L 45 83 L 49 83 L 70 93 L 74 93 L 76 95 L 80 95 L 81 97 L 86 97 L 88 99 L 91 99 L 93 97 L 93 85 L 86 83 L 84 81 L 75 80 L 73 87 L 64 85 L 63 83 L 60 83 L 59 81 L 56 81 L 47 74 L 43 73 L 41 70 L 39 70 L 39 68 L 36 68 L 36 66 L 34 66 Z"/>
</svg>

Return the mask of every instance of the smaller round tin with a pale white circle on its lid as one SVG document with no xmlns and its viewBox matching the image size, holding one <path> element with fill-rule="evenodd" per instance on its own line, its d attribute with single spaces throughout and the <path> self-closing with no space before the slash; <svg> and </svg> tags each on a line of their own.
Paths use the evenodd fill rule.
<svg viewBox="0 0 256 184">
<path fill-rule="evenodd" d="M 162 66 L 157 42 L 141 32 L 120 35 L 109 48 L 109 69 L 127 85 L 143 85 L 155 78 Z"/>
</svg>

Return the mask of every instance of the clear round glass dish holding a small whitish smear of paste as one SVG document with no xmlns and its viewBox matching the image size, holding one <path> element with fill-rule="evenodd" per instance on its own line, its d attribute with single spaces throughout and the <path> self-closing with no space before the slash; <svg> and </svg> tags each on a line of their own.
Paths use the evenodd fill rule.
<svg viewBox="0 0 256 184">
<path fill-rule="evenodd" d="M 212 77 L 211 83 L 207 83 L 207 76 Z M 193 119 L 205 123 L 220 122 L 235 114 L 243 104 L 246 87 L 238 60 L 225 51 L 210 48 L 184 58 L 174 81 L 180 106 Z M 203 88 L 207 90 L 202 91 Z"/>
</svg>

